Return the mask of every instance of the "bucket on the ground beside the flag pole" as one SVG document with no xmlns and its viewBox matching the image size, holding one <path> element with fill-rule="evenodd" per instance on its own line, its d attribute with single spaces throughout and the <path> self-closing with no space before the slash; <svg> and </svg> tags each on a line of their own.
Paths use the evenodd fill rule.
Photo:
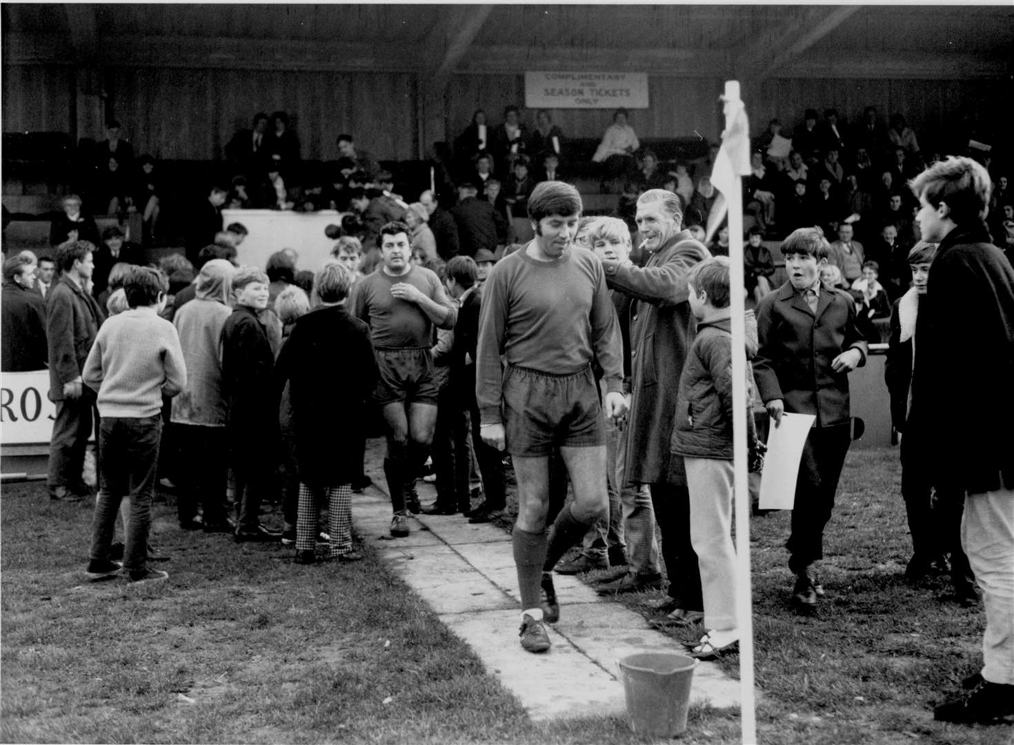
<svg viewBox="0 0 1014 745">
<path fill-rule="evenodd" d="M 676 652 L 641 652 L 619 661 L 627 715 L 635 733 L 672 737 L 686 729 L 698 661 Z"/>
</svg>

